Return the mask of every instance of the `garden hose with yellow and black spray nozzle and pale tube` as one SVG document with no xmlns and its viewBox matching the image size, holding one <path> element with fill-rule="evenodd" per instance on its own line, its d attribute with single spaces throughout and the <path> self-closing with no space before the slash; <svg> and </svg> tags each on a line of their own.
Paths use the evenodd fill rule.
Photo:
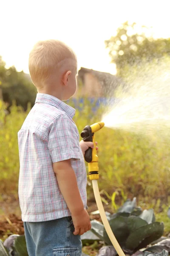
<svg viewBox="0 0 170 256">
<path fill-rule="evenodd" d="M 99 131 L 104 125 L 105 125 L 104 122 L 97 122 L 91 126 L 90 125 L 85 126 L 84 130 L 81 133 L 81 137 L 84 141 L 91 141 L 94 143 L 94 148 L 88 148 L 85 151 L 85 160 L 86 162 L 88 162 L 89 178 L 90 180 L 92 180 L 94 197 L 96 200 L 96 204 L 97 204 L 103 225 L 105 226 L 105 230 L 113 244 L 113 247 L 115 248 L 119 256 L 125 256 L 125 253 L 120 247 L 109 225 L 109 222 L 106 217 L 105 210 L 102 204 L 102 200 L 100 197 L 99 186 L 97 182 L 97 180 L 99 179 L 99 166 L 98 166 L 98 156 L 96 153 L 96 143 L 95 143 L 94 133 L 96 131 Z"/>
</svg>

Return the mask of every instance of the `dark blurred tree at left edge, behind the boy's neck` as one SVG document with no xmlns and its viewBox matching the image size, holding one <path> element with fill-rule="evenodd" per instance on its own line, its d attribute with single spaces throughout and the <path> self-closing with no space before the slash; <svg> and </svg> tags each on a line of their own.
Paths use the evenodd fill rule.
<svg viewBox="0 0 170 256">
<path fill-rule="evenodd" d="M 28 102 L 34 105 L 37 90 L 31 79 L 23 71 L 17 72 L 15 67 L 6 69 L 5 62 L 0 57 L 0 87 L 3 100 L 10 106 L 13 101 L 25 110 Z"/>
</svg>

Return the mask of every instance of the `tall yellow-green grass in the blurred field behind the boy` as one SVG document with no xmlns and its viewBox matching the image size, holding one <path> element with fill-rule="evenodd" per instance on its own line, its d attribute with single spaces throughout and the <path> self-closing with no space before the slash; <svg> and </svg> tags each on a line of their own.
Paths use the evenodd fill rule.
<svg viewBox="0 0 170 256">
<path fill-rule="evenodd" d="M 73 102 L 71 103 L 73 105 Z M 82 103 L 81 103 L 82 104 Z M 82 106 L 80 106 L 82 107 Z M 79 132 L 85 125 L 91 125 L 102 119 L 101 110 L 91 111 L 88 100 L 81 111 L 77 111 L 74 121 Z M 3 102 L 0 103 L 0 193 L 17 196 L 19 155 L 17 132 L 27 112 L 13 105 L 10 115 L 4 116 Z M 126 197 L 147 198 L 150 203 L 154 198 L 167 202 L 170 195 L 170 143 L 168 138 L 160 139 L 154 134 L 144 137 L 121 130 L 103 128 L 96 133 L 99 144 L 99 188 L 116 200 Z M 90 184 L 90 180 L 89 180 Z M 88 192 L 92 192 L 88 186 Z"/>
</svg>

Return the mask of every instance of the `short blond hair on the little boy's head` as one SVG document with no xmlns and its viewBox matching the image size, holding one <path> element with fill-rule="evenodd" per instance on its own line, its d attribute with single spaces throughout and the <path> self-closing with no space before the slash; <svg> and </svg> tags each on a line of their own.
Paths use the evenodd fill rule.
<svg viewBox="0 0 170 256">
<path fill-rule="evenodd" d="M 58 40 L 37 42 L 29 54 L 28 64 L 32 82 L 39 87 L 70 59 L 77 63 L 74 51 L 63 42 Z"/>
</svg>

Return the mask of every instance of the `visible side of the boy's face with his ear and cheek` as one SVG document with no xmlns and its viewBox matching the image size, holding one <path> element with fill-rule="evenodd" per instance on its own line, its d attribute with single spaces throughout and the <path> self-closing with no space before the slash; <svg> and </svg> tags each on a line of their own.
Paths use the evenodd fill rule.
<svg viewBox="0 0 170 256">
<path fill-rule="evenodd" d="M 76 93 L 77 90 L 77 67 L 71 67 L 71 74 L 67 78 L 68 84 L 65 87 L 62 100 L 68 100 Z"/>
</svg>

